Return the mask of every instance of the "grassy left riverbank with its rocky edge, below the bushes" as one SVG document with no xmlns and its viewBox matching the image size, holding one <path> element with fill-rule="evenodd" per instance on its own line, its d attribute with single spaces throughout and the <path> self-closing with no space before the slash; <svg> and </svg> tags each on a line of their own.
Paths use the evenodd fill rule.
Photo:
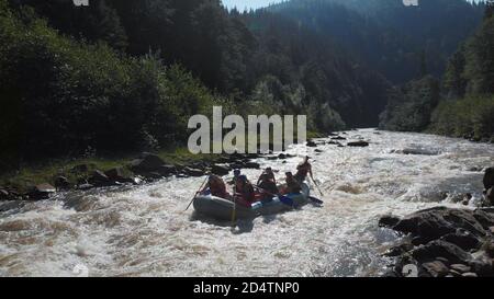
<svg viewBox="0 0 494 299">
<path fill-rule="evenodd" d="M 319 133 L 307 133 L 307 145 Z M 258 169 L 260 154 L 192 154 L 187 148 L 133 154 L 54 159 L 0 174 L 0 200 L 37 200 L 57 191 L 139 184 L 177 176 L 225 175 L 233 169 Z M 281 156 L 283 158 L 283 156 Z"/>
</svg>

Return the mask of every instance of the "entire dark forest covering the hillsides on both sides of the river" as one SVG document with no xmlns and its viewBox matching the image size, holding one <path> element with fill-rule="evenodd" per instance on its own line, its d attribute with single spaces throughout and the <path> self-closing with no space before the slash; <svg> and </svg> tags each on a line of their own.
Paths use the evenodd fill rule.
<svg viewBox="0 0 494 299">
<path fill-rule="evenodd" d="M 213 105 L 306 114 L 321 133 L 494 131 L 484 2 L 89 2 L 0 0 L 0 169 L 176 147 Z"/>
</svg>

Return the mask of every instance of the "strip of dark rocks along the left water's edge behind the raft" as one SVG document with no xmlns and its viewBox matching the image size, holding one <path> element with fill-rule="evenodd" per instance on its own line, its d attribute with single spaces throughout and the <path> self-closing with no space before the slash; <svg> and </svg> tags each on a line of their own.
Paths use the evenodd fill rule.
<svg viewBox="0 0 494 299">
<path fill-rule="evenodd" d="M 256 158 L 259 156 L 235 153 L 224 154 L 207 162 L 168 164 L 158 154 L 143 152 L 130 163 L 105 171 L 94 169 L 91 164 L 79 164 L 67 173 L 54 177 L 52 182 L 38 183 L 24 192 L 10 186 L 0 186 L 0 202 L 42 200 L 57 192 L 88 191 L 127 184 L 138 185 L 173 175 L 179 177 L 202 176 L 209 172 L 226 175 L 237 168 L 259 169 L 259 163 L 252 161 Z M 285 156 L 276 158 L 287 159 Z"/>
</svg>

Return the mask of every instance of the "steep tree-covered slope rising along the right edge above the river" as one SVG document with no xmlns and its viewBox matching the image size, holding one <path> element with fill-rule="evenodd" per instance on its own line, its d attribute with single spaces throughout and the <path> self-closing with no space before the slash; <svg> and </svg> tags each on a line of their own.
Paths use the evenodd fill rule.
<svg viewBox="0 0 494 299">
<path fill-rule="evenodd" d="M 381 127 L 494 140 L 494 4 L 451 55 L 441 79 L 426 76 L 390 91 Z"/>
</svg>

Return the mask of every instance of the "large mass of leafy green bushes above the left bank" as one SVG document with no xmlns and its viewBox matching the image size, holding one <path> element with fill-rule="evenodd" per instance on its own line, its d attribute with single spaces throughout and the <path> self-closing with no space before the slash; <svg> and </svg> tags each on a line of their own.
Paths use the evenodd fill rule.
<svg viewBox="0 0 494 299">
<path fill-rule="evenodd" d="M 215 101 L 190 73 L 164 67 L 156 55 L 127 58 L 104 44 L 60 36 L 30 9 L 0 5 L 2 154 L 168 147 L 187 138 L 190 115 Z"/>
</svg>

